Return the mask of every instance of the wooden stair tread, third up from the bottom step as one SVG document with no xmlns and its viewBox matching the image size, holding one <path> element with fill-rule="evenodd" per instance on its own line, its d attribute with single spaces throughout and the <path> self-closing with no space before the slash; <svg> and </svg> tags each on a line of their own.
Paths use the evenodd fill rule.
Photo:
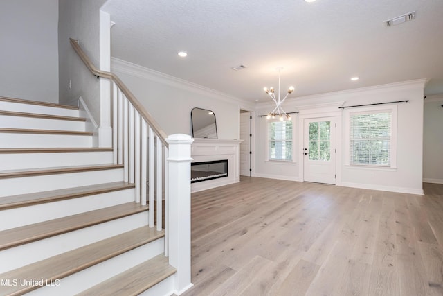
<svg viewBox="0 0 443 296">
<path fill-rule="evenodd" d="M 147 205 L 142 206 L 135 202 L 128 202 L 73 216 L 6 229 L 0 232 L 0 250 L 141 213 L 147 209 Z"/>
</svg>

